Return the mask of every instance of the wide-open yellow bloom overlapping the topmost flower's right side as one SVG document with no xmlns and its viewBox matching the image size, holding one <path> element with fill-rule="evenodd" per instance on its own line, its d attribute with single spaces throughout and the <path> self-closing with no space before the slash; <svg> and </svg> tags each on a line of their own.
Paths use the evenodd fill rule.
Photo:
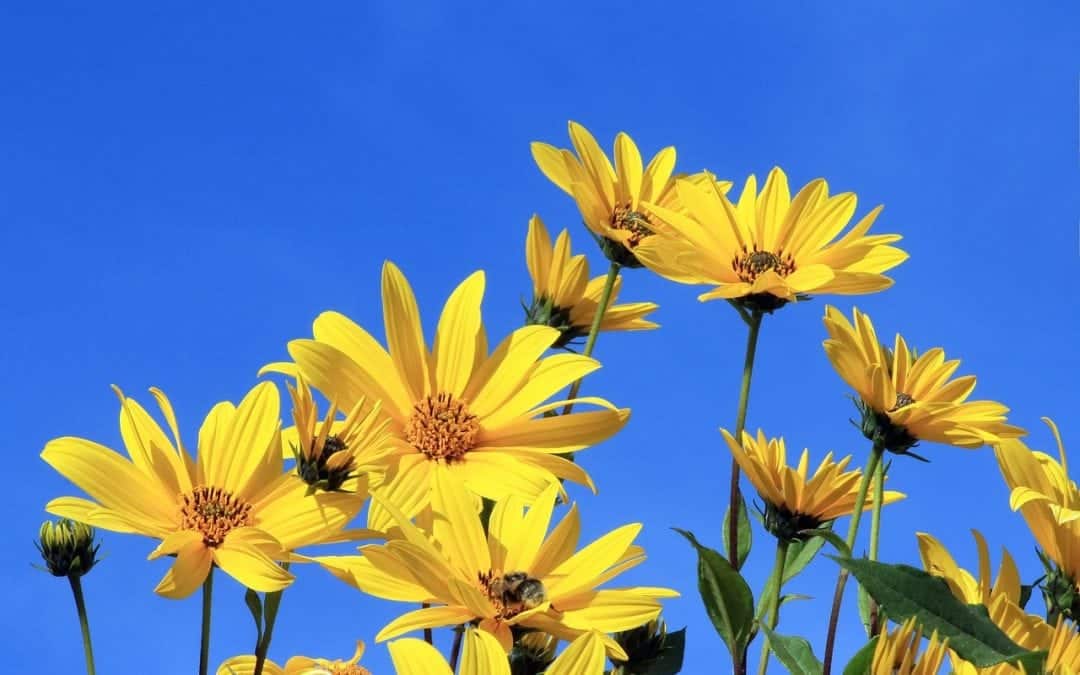
<svg viewBox="0 0 1080 675">
<path fill-rule="evenodd" d="M 889 245 L 899 234 L 867 235 L 880 206 L 837 239 L 856 200 L 851 192 L 829 197 L 824 179 L 792 199 L 778 167 L 760 194 L 753 175 L 738 204 L 726 192 L 727 185 L 715 178 L 677 180 L 677 203 L 685 211 L 647 205 L 658 235 L 635 249 L 662 276 L 716 286 L 698 296 L 702 301 L 721 298 L 772 311 L 805 295 L 876 293 L 892 285 L 882 273 L 907 259 Z"/>
</svg>

